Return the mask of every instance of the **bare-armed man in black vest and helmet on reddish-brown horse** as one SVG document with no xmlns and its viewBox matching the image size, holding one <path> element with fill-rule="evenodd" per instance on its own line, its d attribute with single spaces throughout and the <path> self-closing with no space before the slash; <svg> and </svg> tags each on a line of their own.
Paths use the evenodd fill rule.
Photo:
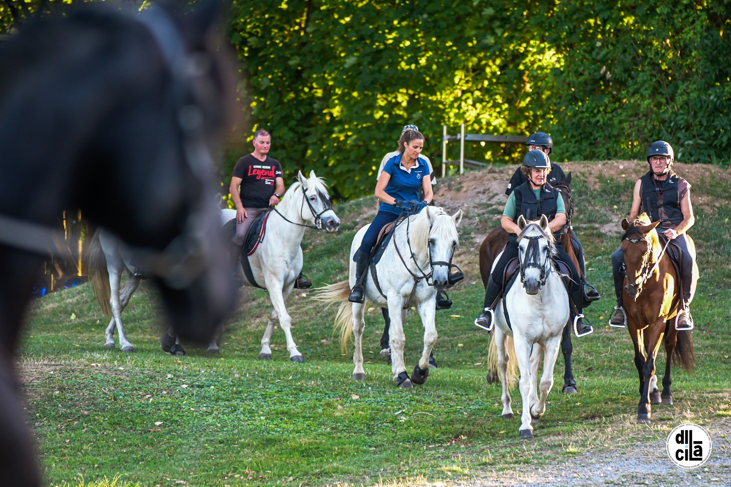
<svg viewBox="0 0 731 487">
<path fill-rule="evenodd" d="M 629 221 L 634 221 L 640 211 L 647 213 L 651 221 L 661 220 L 657 226 L 659 237 L 673 240 L 681 248 L 681 274 L 683 285 L 683 300 L 681 310 L 678 311 L 678 320 L 675 329 L 693 329 L 693 318 L 690 315 L 690 303 L 695 294 L 694 276 L 697 276 L 696 263 L 688 251 L 686 231 L 695 223 L 693 205 L 690 201 L 690 188 L 686 180 L 673 172 L 675 154 L 673 147 L 667 142 L 658 140 L 653 142 L 647 150 L 647 162 L 650 171 L 635 183 L 632 195 L 632 210 L 629 211 Z M 611 326 L 624 327 L 627 324 L 624 308 L 622 307 L 622 285 L 624 285 L 624 253 L 618 248 L 612 254 L 612 271 L 614 277 L 614 292 L 617 296 L 615 312 L 609 320 Z"/>
</svg>

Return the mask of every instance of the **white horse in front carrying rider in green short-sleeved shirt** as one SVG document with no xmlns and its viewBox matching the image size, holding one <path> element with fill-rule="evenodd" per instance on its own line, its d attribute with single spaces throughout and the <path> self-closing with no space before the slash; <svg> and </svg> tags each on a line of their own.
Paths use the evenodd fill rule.
<svg viewBox="0 0 731 487">
<path fill-rule="evenodd" d="M 553 234 L 548 229 L 548 218 L 543 215 L 540 221 L 526 223 L 521 215 L 518 228 L 522 284 L 516 279 L 505 296 L 510 325 L 505 319 L 502 300 L 495 308 L 496 326 L 490 341 L 488 362 L 492 371 L 497 368 L 500 372 L 504 419 L 513 417 L 508 386 L 515 380 L 517 362 L 520 396 L 523 398 L 520 439 L 527 440 L 533 437 L 533 425 L 537 425 L 545 413 L 546 398 L 553 387 L 553 367 L 561 345 L 561 333 L 569 321 L 569 294 L 551 259 L 556 254 L 556 247 Z M 495 259 L 496 262 L 498 260 Z M 536 386 L 541 352 L 543 375 L 539 399 Z M 510 360 L 507 355 L 510 355 Z"/>
</svg>

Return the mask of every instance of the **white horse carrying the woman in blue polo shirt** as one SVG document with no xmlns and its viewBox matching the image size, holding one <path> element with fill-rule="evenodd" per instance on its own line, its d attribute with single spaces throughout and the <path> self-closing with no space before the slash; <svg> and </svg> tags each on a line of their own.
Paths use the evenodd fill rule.
<svg viewBox="0 0 731 487">
<path fill-rule="evenodd" d="M 455 248 L 459 243 L 457 225 L 462 220 L 462 210 L 449 215 L 439 207 L 425 207 L 418 215 L 401 222 L 395 229 L 383 255 L 376 264 L 378 286 L 370 269 L 366 278 L 366 302 L 348 301 L 350 289 L 355 285 L 353 256 L 360 248 L 368 226 L 360 229 L 350 247 L 350 278 L 341 283 L 320 288 L 316 299 L 328 303 L 340 303 L 336 316 L 336 329 L 340 330 L 341 346 L 345 348 L 350 334 L 355 331 L 353 353 L 353 378 L 364 380 L 363 350 L 361 338 L 366 326 L 363 310 L 368 302 L 377 307 L 387 307 L 391 319 L 389 343 L 393 380 L 399 387 L 412 388 L 412 382 L 423 384 L 429 374 L 429 353 L 436 342 L 434 310 L 436 291 L 447 288 L 448 275 Z M 404 319 L 406 309 L 415 305 L 424 326 L 424 349 L 412 377 L 404 365 Z M 393 312 L 391 311 L 393 310 Z"/>
</svg>

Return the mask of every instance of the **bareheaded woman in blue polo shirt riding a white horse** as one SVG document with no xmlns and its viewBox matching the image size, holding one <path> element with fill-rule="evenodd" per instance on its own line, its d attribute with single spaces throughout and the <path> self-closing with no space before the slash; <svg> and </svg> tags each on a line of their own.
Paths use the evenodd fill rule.
<svg viewBox="0 0 731 487">
<path fill-rule="evenodd" d="M 366 293 L 363 275 L 371 260 L 371 250 L 381 229 L 395 221 L 401 210 L 420 212 L 433 198 L 429 166 L 420 157 L 424 147 L 424 136 L 420 131 L 406 129 L 398 139 L 398 154 L 390 158 L 376 183 L 376 198 L 381 201 L 376 218 L 363 236 L 360 248 L 355 253 L 355 285 L 350 291 L 349 302 L 363 303 Z M 419 190 L 424 190 L 424 199 L 419 202 Z"/>
</svg>

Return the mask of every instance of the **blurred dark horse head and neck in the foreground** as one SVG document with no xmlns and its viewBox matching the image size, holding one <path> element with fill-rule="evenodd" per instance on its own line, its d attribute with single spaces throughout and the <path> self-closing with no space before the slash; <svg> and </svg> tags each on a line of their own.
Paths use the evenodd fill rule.
<svg viewBox="0 0 731 487">
<path fill-rule="evenodd" d="M 12 375 L 23 310 L 62 210 L 142 249 L 181 337 L 207 341 L 234 287 L 211 140 L 232 85 L 219 5 L 78 7 L 0 42 L 0 485 L 39 485 Z"/>
</svg>

